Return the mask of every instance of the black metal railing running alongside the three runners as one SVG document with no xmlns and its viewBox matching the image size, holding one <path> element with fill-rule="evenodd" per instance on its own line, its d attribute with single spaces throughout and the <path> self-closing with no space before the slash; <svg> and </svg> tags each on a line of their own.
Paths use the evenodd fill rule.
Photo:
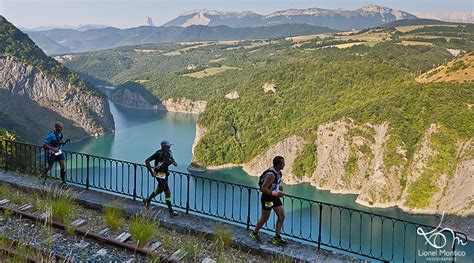
<svg viewBox="0 0 474 263">
<path fill-rule="evenodd" d="M 157 186 L 142 164 L 72 151 L 64 153 L 69 183 L 133 200 L 147 197 Z M 4 170 L 38 175 L 46 162 L 47 153 L 41 146 L 1 141 L 0 165 Z M 59 177 L 57 166 L 50 176 Z M 169 184 L 173 206 L 186 214 L 224 220 L 247 229 L 255 226 L 261 215 L 258 188 L 177 171 L 170 171 Z M 158 196 L 154 202 L 163 204 L 164 199 Z M 291 195 L 284 196 L 283 204 L 286 219 L 282 235 L 313 244 L 317 249 L 325 247 L 385 262 L 422 262 L 417 251 L 434 249 L 417 234 L 418 228 L 428 232 L 435 230 L 434 226 Z M 275 221 L 272 215 L 264 230 L 274 232 Z M 453 252 L 457 245 L 455 237 L 467 240 L 463 233 L 454 232 L 447 242 L 453 241 L 449 247 Z M 453 253 L 452 261 L 455 260 Z"/>
</svg>

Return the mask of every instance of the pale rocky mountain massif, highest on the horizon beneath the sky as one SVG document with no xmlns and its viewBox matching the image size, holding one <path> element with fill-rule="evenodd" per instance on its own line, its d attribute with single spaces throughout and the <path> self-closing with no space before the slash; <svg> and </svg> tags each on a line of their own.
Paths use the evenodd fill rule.
<svg viewBox="0 0 474 263">
<path fill-rule="evenodd" d="M 322 8 L 288 9 L 269 15 L 253 12 L 219 12 L 198 9 L 186 12 L 169 21 L 164 26 L 226 25 L 230 27 L 256 27 L 286 23 L 301 23 L 329 27 L 337 30 L 363 29 L 401 19 L 414 19 L 409 13 L 381 7 L 364 6 L 357 10 L 330 10 Z"/>
</svg>

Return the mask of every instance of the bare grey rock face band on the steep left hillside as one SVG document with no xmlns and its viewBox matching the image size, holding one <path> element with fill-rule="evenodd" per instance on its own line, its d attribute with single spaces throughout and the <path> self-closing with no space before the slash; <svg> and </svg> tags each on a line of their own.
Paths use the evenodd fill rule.
<svg viewBox="0 0 474 263">
<path fill-rule="evenodd" d="M 0 89 L 58 113 L 88 134 L 103 134 L 114 129 L 105 96 L 89 88 L 75 87 L 4 54 L 0 54 Z"/>
</svg>

